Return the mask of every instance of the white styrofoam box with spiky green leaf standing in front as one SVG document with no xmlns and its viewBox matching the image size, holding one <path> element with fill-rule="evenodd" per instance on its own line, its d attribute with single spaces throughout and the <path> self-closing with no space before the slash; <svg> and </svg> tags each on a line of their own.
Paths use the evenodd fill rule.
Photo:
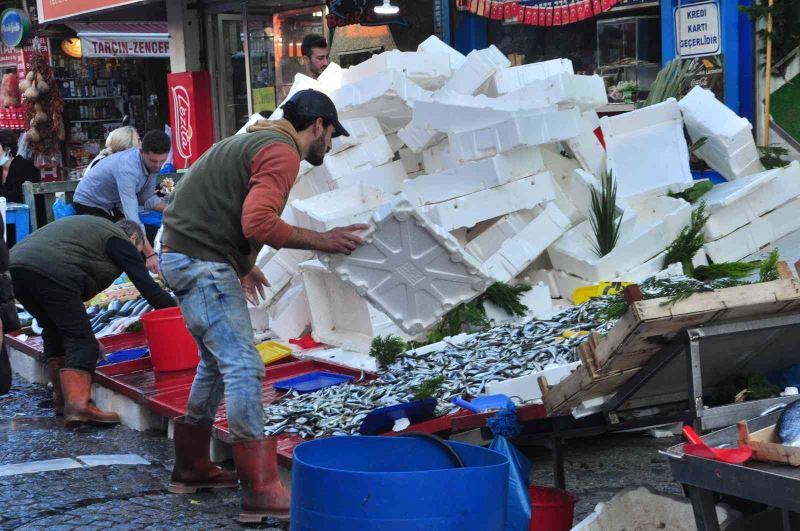
<svg viewBox="0 0 800 531">
<path fill-rule="evenodd" d="M 635 212 L 623 214 L 619 241 L 602 258 L 592 248 L 594 233 L 589 221 L 564 234 L 548 253 L 553 266 L 561 271 L 592 283 L 613 280 L 666 249 L 690 217 L 691 206 L 686 201 L 651 197 L 637 204 Z"/>
</svg>

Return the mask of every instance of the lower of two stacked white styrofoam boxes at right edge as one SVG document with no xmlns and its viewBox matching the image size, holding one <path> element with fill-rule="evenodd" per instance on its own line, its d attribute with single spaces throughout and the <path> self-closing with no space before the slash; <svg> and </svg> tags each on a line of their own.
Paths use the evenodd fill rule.
<svg viewBox="0 0 800 531">
<path fill-rule="evenodd" d="M 735 262 L 798 229 L 800 198 L 795 198 L 741 229 L 707 243 L 705 250 L 715 263 Z"/>
</svg>

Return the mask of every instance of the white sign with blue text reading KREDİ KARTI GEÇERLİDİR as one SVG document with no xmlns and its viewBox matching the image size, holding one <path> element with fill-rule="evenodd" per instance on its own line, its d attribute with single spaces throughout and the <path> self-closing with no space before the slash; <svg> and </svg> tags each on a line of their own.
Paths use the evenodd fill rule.
<svg viewBox="0 0 800 531">
<path fill-rule="evenodd" d="M 716 2 L 676 7 L 674 18 L 675 51 L 680 57 L 704 57 L 719 53 L 722 39 Z"/>
</svg>

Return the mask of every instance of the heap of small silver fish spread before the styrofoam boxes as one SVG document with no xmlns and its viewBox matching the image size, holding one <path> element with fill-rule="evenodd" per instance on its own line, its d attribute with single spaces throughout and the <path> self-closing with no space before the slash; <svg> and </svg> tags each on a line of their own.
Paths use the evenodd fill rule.
<svg viewBox="0 0 800 531">
<path fill-rule="evenodd" d="M 444 382 L 434 392 L 439 400 L 436 414 L 454 413 L 459 409 L 450 402 L 454 396 L 478 395 L 487 383 L 576 361 L 575 347 L 587 337 L 580 332 L 602 333 L 616 322 L 607 319 L 610 301 L 592 299 L 550 320 L 493 328 L 463 343 L 446 343 L 435 352 L 407 351 L 368 383 L 359 378 L 313 393 L 291 392 L 264 408 L 264 432 L 304 438 L 357 434 L 369 412 L 414 400 L 415 387 L 438 376 L 444 376 Z"/>
</svg>

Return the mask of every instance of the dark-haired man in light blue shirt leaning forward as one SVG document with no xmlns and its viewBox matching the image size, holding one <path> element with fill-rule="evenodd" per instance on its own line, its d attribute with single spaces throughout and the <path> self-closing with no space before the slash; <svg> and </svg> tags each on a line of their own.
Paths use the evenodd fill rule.
<svg viewBox="0 0 800 531">
<path fill-rule="evenodd" d="M 139 219 L 140 206 L 159 212 L 167 207 L 156 195 L 156 176 L 169 156 L 169 149 L 167 134 L 153 130 L 144 135 L 141 148 L 126 149 L 98 162 L 78 183 L 72 203 L 75 212 L 111 221 L 124 217 L 144 229 Z M 147 238 L 142 243 L 147 268 L 157 273 L 155 251 Z"/>
</svg>

